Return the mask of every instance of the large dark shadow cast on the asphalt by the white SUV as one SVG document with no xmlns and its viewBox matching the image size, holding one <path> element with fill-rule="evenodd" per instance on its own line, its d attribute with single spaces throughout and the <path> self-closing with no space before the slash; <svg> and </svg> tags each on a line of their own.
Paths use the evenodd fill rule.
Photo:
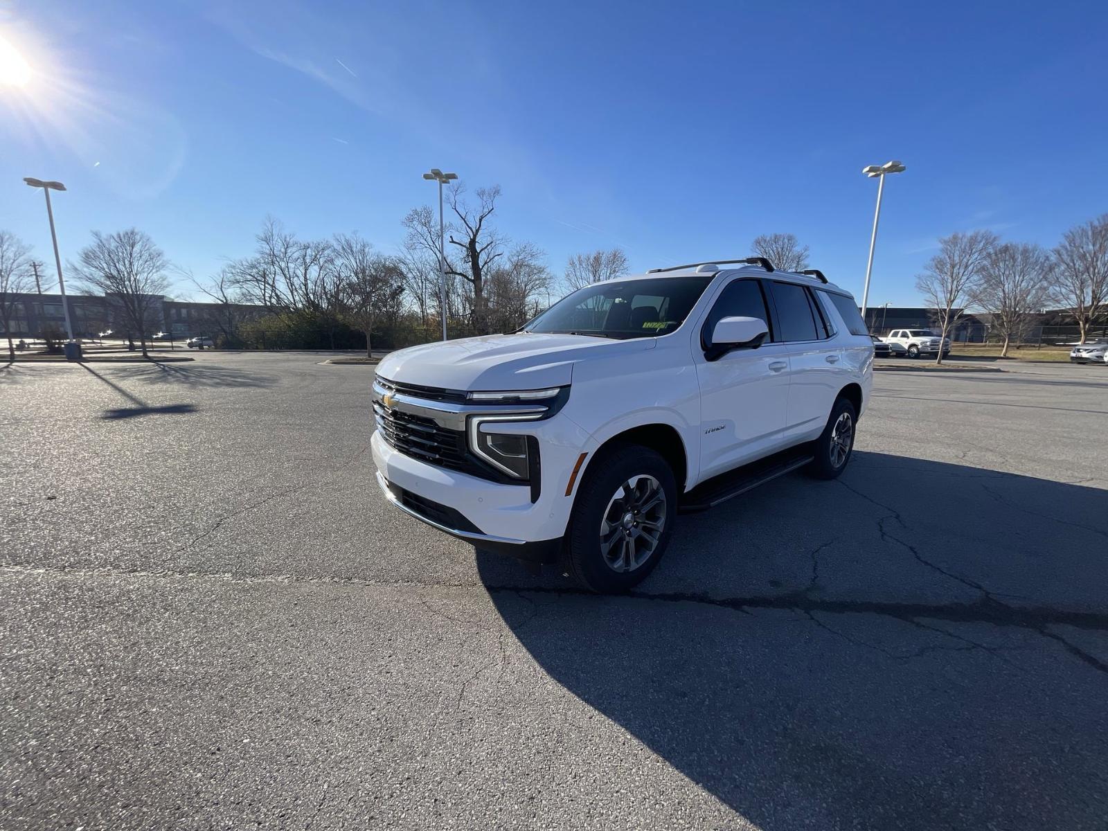
<svg viewBox="0 0 1108 831">
<path fill-rule="evenodd" d="M 476 565 L 550 678 L 758 828 L 1095 828 L 1106 541 L 1108 491 L 856 452 L 679 517 L 627 597 Z"/>
</svg>

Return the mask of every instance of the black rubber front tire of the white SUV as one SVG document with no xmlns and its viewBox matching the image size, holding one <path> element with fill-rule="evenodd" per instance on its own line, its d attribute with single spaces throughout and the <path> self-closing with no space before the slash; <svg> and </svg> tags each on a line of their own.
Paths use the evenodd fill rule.
<svg viewBox="0 0 1108 831">
<path fill-rule="evenodd" d="M 648 481 L 650 479 L 653 483 Z M 634 494 L 627 494 L 624 485 L 632 482 L 636 482 L 635 491 L 652 493 L 654 484 L 658 485 L 657 490 L 664 495 L 660 533 L 657 534 L 653 548 L 643 555 L 644 544 L 649 545 L 645 541 L 652 540 L 646 527 L 642 527 L 634 515 L 632 516 L 634 524 L 629 529 L 625 529 L 622 522 L 611 523 L 612 542 L 606 557 L 602 551 L 602 530 L 607 520 L 620 512 L 625 512 L 624 516 L 634 514 L 636 505 L 646 504 L 636 502 Z M 624 495 L 623 500 L 618 499 L 620 493 Z M 653 505 L 640 516 L 646 525 L 657 522 L 657 505 Z M 658 565 L 669 545 L 676 519 L 677 484 L 674 472 L 665 459 L 649 448 L 638 444 L 619 444 L 604 449 L 593 459 L 577 489 L 577 499 L 570 516 L 570 527 L 565 538 L 566 571 L 589 592 L 597 594 L 626 592 L 638 585 Z M 622 535 L 628 536 L 630 544 L 626 543 Z M 640 563 L 633 564 L 636 556 L 644 558 Z M 609 562 L 612 558 L 618 562 L 612 564 Z"/>
</svg>

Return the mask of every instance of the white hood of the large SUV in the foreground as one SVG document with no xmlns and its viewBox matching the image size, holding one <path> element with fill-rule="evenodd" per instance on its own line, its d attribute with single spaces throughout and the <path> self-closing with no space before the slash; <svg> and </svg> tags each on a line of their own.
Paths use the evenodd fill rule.
<svg viewBox="0 0 1108 831">
<path fill-rule="evenodd" d="M 536 390 L 570 383 L 578 360 L 653 348 L 654 338 L 484 335 L 390 352 L 377 365 L 377 375 L 390 381 L 451 390 Z"/>
</svg>

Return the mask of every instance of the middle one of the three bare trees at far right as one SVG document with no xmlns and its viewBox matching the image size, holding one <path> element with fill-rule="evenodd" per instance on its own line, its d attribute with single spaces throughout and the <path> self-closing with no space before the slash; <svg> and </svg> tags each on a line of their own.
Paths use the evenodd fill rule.
<svg viewBox="0 0 1108 831">
<path fill-rule="evenodd" d="M 1008 345 L 1027 335 L 1037 311 L 1050 301 L 1050 255 L 1040 246 L 1004 243 L 985 257 L 977 285 L 977 304 L 993 316 L 993 330 Z"/>
</svg>

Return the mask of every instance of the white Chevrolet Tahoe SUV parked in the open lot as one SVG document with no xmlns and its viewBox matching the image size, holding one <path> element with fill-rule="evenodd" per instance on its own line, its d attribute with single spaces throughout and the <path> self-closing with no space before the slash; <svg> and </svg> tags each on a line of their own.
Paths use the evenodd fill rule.
<svg viewBox="0 0 1108 831">
<path fill-rule="evenodd" d="M 819 271 L 656 269 L 575 291 L 511 335 L 389 355 L 373 462 L 412 516 L 626 591 L 678 509 L 801 466 L 839 475 L 872 380 L 858 306 Z"/>
</svg>

